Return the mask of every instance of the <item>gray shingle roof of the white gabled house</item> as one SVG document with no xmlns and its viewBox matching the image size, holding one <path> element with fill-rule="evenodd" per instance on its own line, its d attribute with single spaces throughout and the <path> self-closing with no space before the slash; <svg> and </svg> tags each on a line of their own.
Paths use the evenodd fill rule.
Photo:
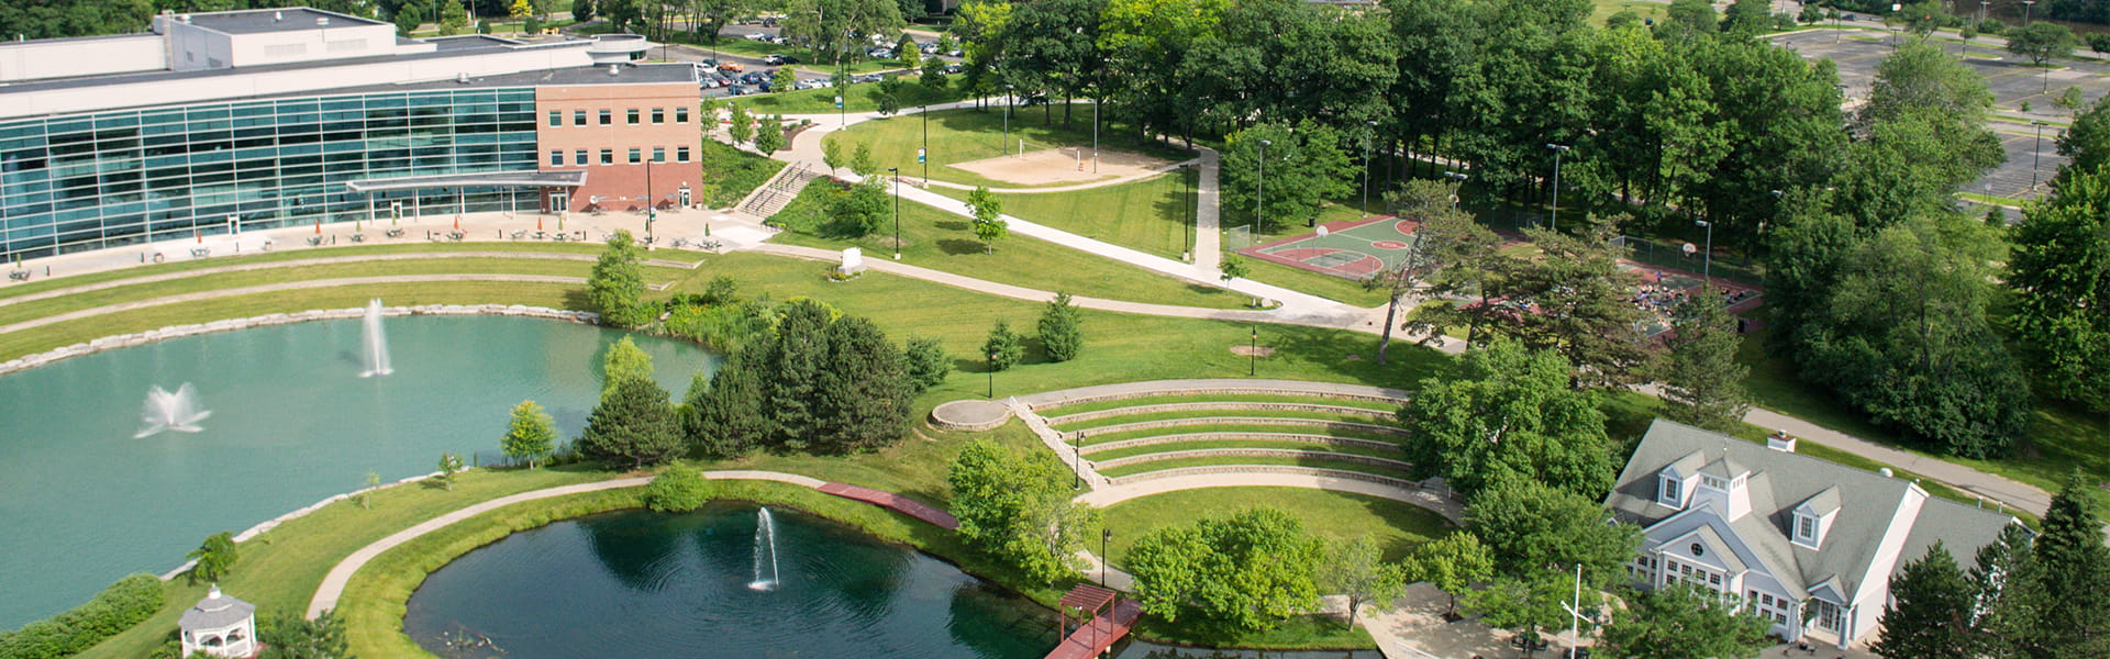
<svg viewBox="0 0 2110 659">
<path fill-rule="evenodd" d="M 1764 444 L 1663 418 L 1648 427 L 1633 458 L 1627 460 L 1627 469 L 1620 471 L 1612 494 L 1606 496 L 1606 507 L 1620 520 L 1650 528 L 1648 543 L 1690 532 L 1694 526 L 1692 520 L 1654 528 L 1684 513 L 1656 505 L 1654 496 L 1656 473 L 1673 463 L 1682 473 L 1690 473 L 1684 467 L 1690 465 L 1694 454 L 1709 456 L 1709 467 L 1713 463 L 1732 463 L 1751 471 L 1747 482 L 1751 513 L 1728 522 L 1728 526 L 1758 556 L 1758 564 L 1766 572 L 1772 572 L 1789 589 L 1789 596 L 1796 598 L 1802 598 L 1810 585 L 1827 579 L 1838 579 L 1838 589 L 1853 596 L 1867 579 L 1886 577 L 1869 575 L 1876 549 L 1884 532 L 1891 530 L 1891 520 L 1899 507 L 1912 501 L 1924 498 L 1905 536 L 1905 551 L 1899 556 L 1899 562 L 1918 560 L 1935 539 L 1941 539 L 1958 560 L 1969 562 L 1969 556 L 1977 547 L 1990 543 L 2002 526 L 2013 522 L 2013 517 L 1988 509 L 1926 496 L 1905 479 L 1804 454 L 1770 450 Z M 1838 517 L 1834 517 L 1819 549 L 1789 543 L 1791 509 L 1808 501 L 1838 509 Z M 1692 515 L 1720 520 L 1711 507 Z"/>
</svg>

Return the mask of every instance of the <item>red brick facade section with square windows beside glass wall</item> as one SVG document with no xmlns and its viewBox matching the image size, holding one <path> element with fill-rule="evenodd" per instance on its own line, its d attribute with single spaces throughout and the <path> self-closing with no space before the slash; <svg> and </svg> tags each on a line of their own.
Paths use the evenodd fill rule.
<svg viewBox="0 0 2110 659">
<path fill-rule="evenodd" d="M 696 152 L 703 116 L 694 84 L 536 87 L 534 106 L 540 169 L 587 171 L 587 186 L 572 190 L 572 211 L 589 211 L 589 205 L 644 209 L 648 194 L 660 205 L 682 203 L 682 190 L 690 190 L 690 203 L 701 203 L 694 194 L 703 184 Z M 544 211 L 557 211 L 553 192 L 563 190 L 542 190 Z"/>
</svg>

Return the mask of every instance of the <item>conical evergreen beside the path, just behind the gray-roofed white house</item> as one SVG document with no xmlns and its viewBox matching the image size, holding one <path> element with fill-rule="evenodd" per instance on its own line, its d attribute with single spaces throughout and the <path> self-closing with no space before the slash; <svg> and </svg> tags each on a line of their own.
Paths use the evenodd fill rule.
<svg viewBox="0 0 2110 659">
<path fill-rule="evenodd" d="M 1669 355 L 1658 361 L 1663 372 L 1656 378 L 1663 382 L 1663 416 L 1730 433 L 1751 410 L 1751 397 L 1743 389 L 1743 376 L 1751 370 L 1737 363 L 1743 344 L 1737 317 L 1711 289 L 1677 304 L 1673 313 L 1671 336 L 1665 340 Z"/>
</svg>

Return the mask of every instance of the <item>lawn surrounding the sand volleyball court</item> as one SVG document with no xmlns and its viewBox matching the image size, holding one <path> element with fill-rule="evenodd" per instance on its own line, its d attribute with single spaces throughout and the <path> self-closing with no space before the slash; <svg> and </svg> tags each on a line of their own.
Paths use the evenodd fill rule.
<svg viewBox="0 0 2110 659">
<path fill-rule="evenodd" d="M 1072 125 L 1061 127 L 1061 108 L 1015 108 L 1011 112 L 1011 133 L 1006 144 L 1004 133 L 1004 108 L 996 103 L 987 110 L 939 110 L 928 114 L 931 129 L 931 177 L 941 182 L 954 182 L 964 186 L 990 186 L 990 188 L 1034 188 L 1011 182 L 998 182 L 981 177 L 973 171 L 952 167 L 952 163 L 968 163 L 996 158 L 1006 152 L 1017 150 L 1017 142 L 1025 139 L 1025 150 L 1044 148 L 1091 148 L 1091 106 L 1078 103 L 1072 112 Z M 867 120 L 848 127 L 838 133 L 827 133 L 827 142 L 842 148 L 844 158 L 857 150 L 859 144 L 871 148 L 871 161 L 884 171 L 886 167 L 901 167 L 903 173 L 922 175 L 922 165 L 916 163 L 916 150 L 924 146 L 924 116 L 895 116 Z M 1160 144 L 1137 144 L 1129 131 L 1116 131 L 1112 125 L 1101 125 L 1099 144 L 1114 150 L 1133 150 L 1167 161 L 1186 161 L 1188 152 L 1167 148 Z M 1051 184 L 1070 186 L 1070 184 Z M 1021 215 L 1023 218 L 1023 215 Z"/>
</svg>

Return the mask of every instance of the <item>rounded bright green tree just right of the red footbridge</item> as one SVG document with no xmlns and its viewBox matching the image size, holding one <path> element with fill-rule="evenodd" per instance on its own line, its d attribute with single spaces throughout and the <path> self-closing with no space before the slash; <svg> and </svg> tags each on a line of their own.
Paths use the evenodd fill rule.
<svg viewBox="0 0 2110 659">
<path fill-rule="evenodd" d="M 1158 528 L 1129 549 L 1135 598 L 1165 621 L 1201 617 L 1232 629 L 1264 629 L 1317 604 L 1312 568 L 1321 543 L 1304 524 L 1255 507 Z"/>
</svg>

